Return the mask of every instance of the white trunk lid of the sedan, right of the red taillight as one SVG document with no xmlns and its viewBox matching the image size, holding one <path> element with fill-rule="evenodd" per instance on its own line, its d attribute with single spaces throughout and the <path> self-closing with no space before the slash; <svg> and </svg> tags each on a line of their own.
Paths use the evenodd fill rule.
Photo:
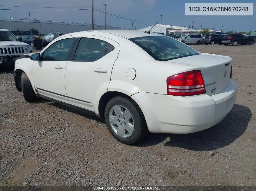
<svg viewBox="0 0 256 191">
<path fill-rule="evenodd" d="M 171 62 L 166 61 L 166 62 Z M 201 70 L 206 93 L 211 96 L 226 89 L 230 81 L 232 58 L 201 53 L 173 60 L 175 63 L 195 66 Z"/>
</svg>

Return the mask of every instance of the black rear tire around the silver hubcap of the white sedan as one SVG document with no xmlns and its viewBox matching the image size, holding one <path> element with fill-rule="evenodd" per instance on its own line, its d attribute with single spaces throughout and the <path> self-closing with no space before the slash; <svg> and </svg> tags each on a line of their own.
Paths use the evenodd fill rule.
<svg viewBox="0 0 256 191">
<path fill-rule="evenodd" d="M 115 105 L 122 105 L 123 107 L 126 107 L 133 117 L 134 130 L 129 137 L 124 138 L 119 136 L 111 127 L 111 124 L 109 122 L 109 113 L 111 111 L 111 108 Z M 147 123 L 140 107 L 137 103 L 135 103 L 135 101 L 126 97 L 118 96 L 108 101 L 105 107 L 105 122 L 111 135 L 113 135 L 116 140 L 126 145 L 132 145 L 139 142 L 148 133 Z"/>
</svg>

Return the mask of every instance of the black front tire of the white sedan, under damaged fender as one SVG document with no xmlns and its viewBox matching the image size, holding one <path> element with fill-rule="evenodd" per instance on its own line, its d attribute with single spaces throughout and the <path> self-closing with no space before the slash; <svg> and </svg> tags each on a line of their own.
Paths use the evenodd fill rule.
<svg viewBox="0 0 256 191">
<path fill-rule="evenodd" d="M 21 74 L 21 88 L 23 97 L 27 102 L 34 102 L 38 100 L 25 72 Z"/>
</svg>

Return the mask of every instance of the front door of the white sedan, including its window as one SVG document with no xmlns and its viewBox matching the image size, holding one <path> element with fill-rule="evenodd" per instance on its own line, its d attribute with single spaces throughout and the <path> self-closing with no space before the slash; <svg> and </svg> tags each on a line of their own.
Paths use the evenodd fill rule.
<svg viewBox="0 0 256 191">
<path fill-rule="evenodd" d="M 34 61 L 32 75 L 39 94 L 69 103 L 65 89 L 65 68 L 70 59 L 75 36 L 64 37 L 40 53 Z"/>
</svg>

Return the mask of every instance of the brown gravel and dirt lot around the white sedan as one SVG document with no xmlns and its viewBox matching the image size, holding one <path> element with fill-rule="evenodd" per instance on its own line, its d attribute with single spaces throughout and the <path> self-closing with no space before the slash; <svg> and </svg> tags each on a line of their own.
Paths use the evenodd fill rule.
<svg viewBox="0 0 256 191">
<path fill-rule="evenodd" d="M 150 134 L 134 146 L 111 137 L 104 120 L 26 103 L 12 72 L 1 72 L 0 185 L 256 186 L 256 46 L 192 47 L 234 59 L 234 108 L 208 130 Z"/>
</svg>

